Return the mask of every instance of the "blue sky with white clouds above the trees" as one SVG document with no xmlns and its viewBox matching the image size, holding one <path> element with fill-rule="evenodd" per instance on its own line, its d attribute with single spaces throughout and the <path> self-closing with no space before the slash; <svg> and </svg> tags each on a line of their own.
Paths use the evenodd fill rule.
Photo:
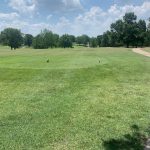
<svg viewBox="0 0 150 150">
<path fill-rule="evenodd" d="M 125 12 L 150 17 L 150 0 L 1 0 L 0 31 L 6 27 L 38 34 L 47 28 L 58 34 L 96 36 Z"/>
</svg>

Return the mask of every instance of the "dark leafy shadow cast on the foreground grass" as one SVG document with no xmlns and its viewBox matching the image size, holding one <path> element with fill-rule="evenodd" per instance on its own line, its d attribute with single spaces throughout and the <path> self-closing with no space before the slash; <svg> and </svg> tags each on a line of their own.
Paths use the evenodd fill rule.
<svg viewBox="0 0 150 150">
<path fill-rule="evenodd" d="M 131 127 L 132 134 L 126 134 L 121 139 L 111 139 L 104 141 L 106 150 L 144 150 L 146 136 L 143 135 L 137 125 Z M 149 131 L 148 131 L 149 132 Z M 150 132 L 149 132 L 150 133 Z"/>
</svg>

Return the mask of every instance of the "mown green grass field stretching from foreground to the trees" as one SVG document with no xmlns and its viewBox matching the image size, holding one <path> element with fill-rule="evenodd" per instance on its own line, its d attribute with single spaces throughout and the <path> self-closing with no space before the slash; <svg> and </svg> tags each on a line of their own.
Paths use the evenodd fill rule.
<svg viewBox="0 0 150 150">
<path fill-rule="evenodd" d="M 141 150 L 133 127 L 148 136 L 149 125 L 149 58 L 0 47 L 0 149 Z"/>
</svg>

